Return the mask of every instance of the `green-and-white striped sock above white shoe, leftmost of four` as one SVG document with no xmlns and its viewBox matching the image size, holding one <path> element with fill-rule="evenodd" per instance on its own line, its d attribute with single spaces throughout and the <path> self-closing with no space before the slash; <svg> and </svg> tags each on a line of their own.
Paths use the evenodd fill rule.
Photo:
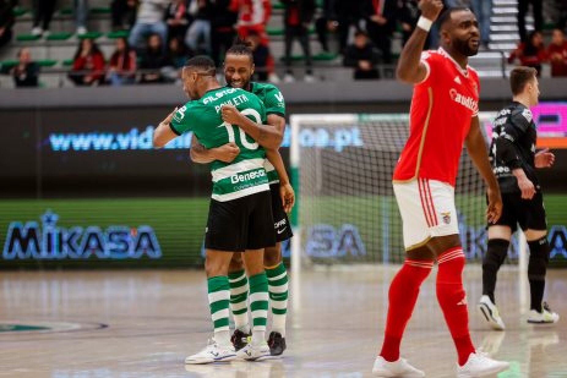
<svg viewBox="0 0 567 378">
<path fill-rule="evenodd" d="M 229 278 L 217 275 L 207 279 L 209 307 L 213 318 L 214 340 L 219 345 L 230 345 L 229 329 Z"/>
</svg>

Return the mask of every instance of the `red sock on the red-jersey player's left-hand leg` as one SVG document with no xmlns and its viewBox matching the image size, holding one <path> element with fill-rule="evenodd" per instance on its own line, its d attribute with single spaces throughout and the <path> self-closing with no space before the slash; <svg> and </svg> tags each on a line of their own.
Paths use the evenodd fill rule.
<svg viewBox="0 0 567 378">
<path fill-rule="evenodd" d="M 380 351 L 380 356 L 386 361 L 394 362 L 400 358 L 401 337 L 412 316 L 421 283 L 425 281 L 432 267 L 432 261 L 406 260 L 390 284 L 386 331 Z"/>
</svg>

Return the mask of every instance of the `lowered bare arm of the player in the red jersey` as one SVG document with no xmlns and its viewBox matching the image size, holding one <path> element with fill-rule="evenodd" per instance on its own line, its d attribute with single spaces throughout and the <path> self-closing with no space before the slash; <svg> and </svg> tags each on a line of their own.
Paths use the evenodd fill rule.
<svg viewBox="0 0 567 378">
<path fill-rule="evenodd" d="M 483 134 L 480 131 L 479 117 L 472 117 L 471 128 L 468 130 L 465 139 L 468 154 L 476 165 L 476 169 L 483 176 L 486 186 L 488 186 L 488 208 L 486 209 L 486 218 L 488 222 L 494 223 L 502 214 L 502 198 L 500 197 L 500 187 L 498 180 L 492 172 L 490 162 L 488 160 L 488 150 L 484 141 Z"/>
</svg>

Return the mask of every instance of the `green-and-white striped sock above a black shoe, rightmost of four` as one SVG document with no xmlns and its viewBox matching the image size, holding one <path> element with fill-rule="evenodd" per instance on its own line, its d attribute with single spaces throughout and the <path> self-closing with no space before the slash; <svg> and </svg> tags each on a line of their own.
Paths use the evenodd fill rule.
<svg viewBox="0 0 567 378">
<path fill-rule="evenodd" d="M 270 307 L 272 308 L 272 331 L 285 337 L 285 320 L 287 317 L 287 270 L 284 262 L 273 267 L 266 267 Z"/>
</svg>

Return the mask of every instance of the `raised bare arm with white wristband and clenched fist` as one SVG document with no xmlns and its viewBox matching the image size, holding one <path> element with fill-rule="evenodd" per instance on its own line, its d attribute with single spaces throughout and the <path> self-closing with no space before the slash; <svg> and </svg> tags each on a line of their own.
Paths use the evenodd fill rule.
<svg viewBox="0 0 567 378">
<path fill-rule="evenodd" d="M 420 62 L 421 52 L 425 46 L 429 28 L 439 16 L 443 9 L 441 0 L 421 0 L 421 17 L 417 23 L 412 36 L 401 50 L 400 59 L 397 62 L 396 76 L 399 80 L 416 84 L 422 82 L 428 74 L 428 67 Z"/>
</svg>

